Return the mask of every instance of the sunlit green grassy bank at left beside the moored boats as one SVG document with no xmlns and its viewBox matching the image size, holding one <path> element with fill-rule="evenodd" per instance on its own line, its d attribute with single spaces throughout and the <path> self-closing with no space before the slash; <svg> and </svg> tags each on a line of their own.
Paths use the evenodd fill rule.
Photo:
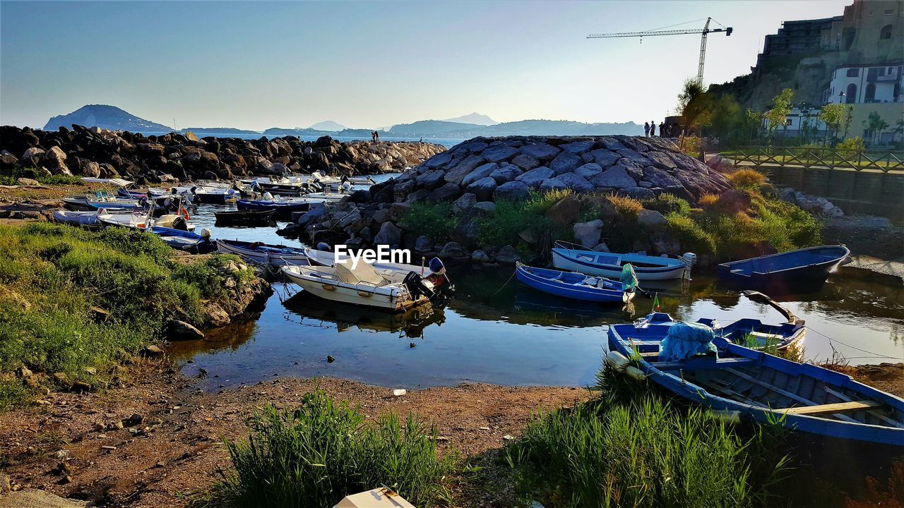
<svg viewBox="0 0 904 508">
<path fill-rule="evenodd" d="M 238 259 L 186 266 L 173 255 L 137 230 L 0 225 L 0 373 L 24 365 L 97 386 L 110 362 L 162 338 L 170 319 L 200 325 L 202 300 L 225 296 L 217 268 Z M 0 409 L 27 396 L 22 381 L 0 379 Z"/>
</svg>

